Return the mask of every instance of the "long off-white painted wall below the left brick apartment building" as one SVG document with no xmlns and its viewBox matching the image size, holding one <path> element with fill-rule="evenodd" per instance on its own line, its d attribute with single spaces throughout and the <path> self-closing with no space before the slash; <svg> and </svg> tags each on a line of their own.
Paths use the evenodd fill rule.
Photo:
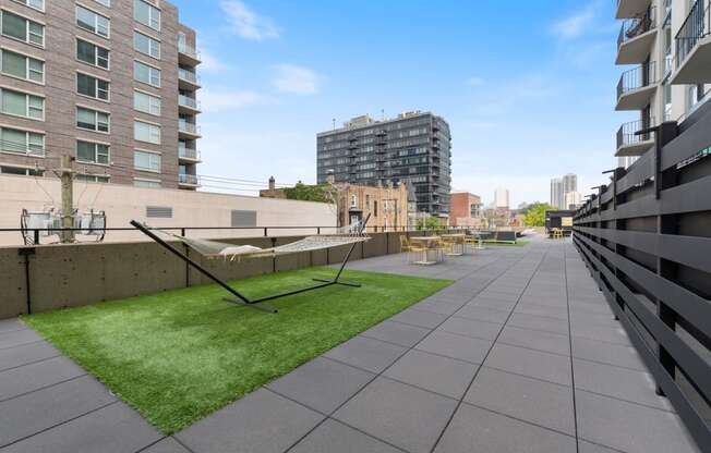
<svg viewBox="0 0 711 453">
<path fill-rule="evenodd" d="M 44 189 L 43 189 L 44 188 Z M 45 193 L 45 191 L 47 193 Z M 52 201 L 53 200 L 53 201 Z M 20 228 L 22 209 L 60 209 L 60 183 L 57 179 L 0 175 L 0 228 Z M 146 206 L 171 207 L 172 219 L 146 219 Z M 257 226 L 336 226 L 336 209 L 332 205 L 210 194 L 165 188 L 138 188 L 119 184 L 77 182 L 74 184 L 74 207 L 107 213 L 109 228 L 130 226 L 135 219 L 152 226 L 230 226 L 232 210 L 255 210 Z M 296 228 L 270 230 L 269 235 L 312 234 L 315 230 Z M 262 229 L 188 232 L 193 237 L 262 236 Z M 107 242 L 145 240 L 140 232 L 111 232 Z M 56 238 L 47 238 L 47 242 Z M 45 242 L 45 241 L 43 241 Z M 20 233 L 0 232 L 0 245 L 22 243 Z"/>
</svg>

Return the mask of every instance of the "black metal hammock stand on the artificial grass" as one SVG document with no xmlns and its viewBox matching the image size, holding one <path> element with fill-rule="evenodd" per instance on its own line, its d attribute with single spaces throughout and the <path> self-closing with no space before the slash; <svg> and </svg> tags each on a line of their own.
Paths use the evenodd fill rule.
<svg viewBox="0 0 711 453">
<path fill-rule="evenodd" d="M 371 215 L 369 213 L 367 217 L 365 218 L 365 220 L 360 224 L 359 234 L 363 234 L 363 232 L 365 231 L 365 225 L 367 224 L 367 221 L 370 220 L 370 218 L 371 218 Z M 131 221 L 131 225 L 133 225 L 136 230 L 141 231 L 146 236 L 150 237 L 157 244 L 159 244 L 162 247 L 165 247 L 166 249 L 168 249 L 170 253 L 176 255 L 178 258 L 185 261 L 189 266 L 193 267 L 200 273 L 207 277 L 208 279 L 210 279 L 212 281 L 217 283 L 218 285 L 222 286 L 227 292 L 232 294 L 234 296 L 234 298 L 233 297 L 224 297 L 222 298 L 222 301 L 229 302 L 230 304 L 242 305 L 242 306 L 245 306 L 245 307 L 252 307 L 252 308 L 256 308 L 256 309 L 267 311 L 267 313 L 277 313 L 278 310 L 276 308 L 274 308 L 274 307 L 272 307 L 269 305 L 265 305 L 263 303 L 267 302 L 267 301 L 274 301 L 276 298 L 290 296 L 290 295 L 293 295 L 293 294 L 300 294 L 300 293 L 305 293 L 308 291 L 313 291 L 313 290 L 318 290 L 318 289 L 326 287 L 326 286 L 332 286 L 332 285 L 335 285 L 335 284 L 339 284 L 339 285 L 344 285 L 344 286 L 351 286 L 351 287 L 360 287 L 361 286 L 360 283 L 353 283 L 353 282 L 347 282 L 347 281 L 340 280 L 340 276 L 344 272 L 344 269 L 346 268 L 346 265 L 348 265 L 348 261 L 350 260 L 350 256 L 353 253 L 353 249 L 356 248 L 356 245 L 359 244 L 358 242 L 353 242 L 351 244 L 350 248 L 348 249 L 348 253 L 346 254 L 346 257 L 344 258 L 344 261 L 340 265 L 340 268 L 338 269 L 338 272 L 336 273 L 336 277 L 333 280 L 312 279 L 313 281 L 318 282 L 318 283 L 314 284 L 314 285 L 311 285 L 311 286 L 302 287 L 302 289 L 299 289 L 299 290 L 293 290 L 293 291 L 288 291 L 288 292 L 285 292 L 285 293 L 274 294 L 274 295 L 266 296 L 266 297 L 250 299 L 249 297 L 246 297 L 245 295 L 241 294 L 239 291 L 237 291 L 236 289 L 233 289 L 232 286 L 227 284 L 227 282 L 225 282 L 224 280 L 216 277 L 213 272 L 205 269 L 202 265 L 200 265 L 198 262 L 195 262 L 194 260 L 192 260 L 188 255 L 180 252 L 178 248 L 173 247 L 172 245 L 168 244 L 166 241 L 164 241 L 158 235 L 156 235 L 153 231 L 150 231 L 150 229 L 148 229 L 145 225 L 136 222 L 135 220 Z"/>
</svg>

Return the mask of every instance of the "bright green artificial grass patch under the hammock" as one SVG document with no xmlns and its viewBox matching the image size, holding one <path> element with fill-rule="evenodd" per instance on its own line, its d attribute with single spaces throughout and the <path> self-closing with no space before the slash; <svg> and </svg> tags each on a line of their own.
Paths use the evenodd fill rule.
<svg viewBox="0 0 711 453">
<path fill-rule="evenodd" d="M 234 283 L 258 297 L 333 276 L 311 268 Z M 363 286 L 272 301 L 276 315 L 225 303 L 226 292 L 208 285 L 23 319 L 172 433 L 451 283 L 362 271 L 344 278 Z"/>
</svg>

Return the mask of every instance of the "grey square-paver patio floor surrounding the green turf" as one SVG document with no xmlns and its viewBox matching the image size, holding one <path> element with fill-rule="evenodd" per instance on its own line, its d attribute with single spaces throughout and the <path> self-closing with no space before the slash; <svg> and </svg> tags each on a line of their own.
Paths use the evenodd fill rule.
<svg viewBox="0 0 711 453">
<path fill-rule="evenodd" d="M 699 451 L 569 240 L 350 267 L 456 282 L 171 437 L 0 321 L 0 452 Z"/>
</svg>

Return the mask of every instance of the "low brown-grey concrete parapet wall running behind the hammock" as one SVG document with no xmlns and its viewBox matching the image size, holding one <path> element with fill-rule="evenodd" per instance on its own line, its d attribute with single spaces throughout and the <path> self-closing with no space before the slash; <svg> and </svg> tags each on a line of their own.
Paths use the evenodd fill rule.
<svg viewBox="0 0 711 453">
<path fill-rule="evenodd" d="M 402 234 L 408 233 L 371 234 L 371 241 L 356 246 L 351 259 L 397 254 Z M 222 242 L 270 247 L 301 237 L 250 237 Z M 180 243 L 174 245 L 184 247 Z M 190 256 L 219 278 L 234 280 L 339 264 L 348 249 L 349 246 L 340 246 L 240 262 L 207 260 L 194 252 L 190 252 Z M 212 281 L 154 243 L 0 247 L 0 319 L 207 283 Z"/>
</svg>

